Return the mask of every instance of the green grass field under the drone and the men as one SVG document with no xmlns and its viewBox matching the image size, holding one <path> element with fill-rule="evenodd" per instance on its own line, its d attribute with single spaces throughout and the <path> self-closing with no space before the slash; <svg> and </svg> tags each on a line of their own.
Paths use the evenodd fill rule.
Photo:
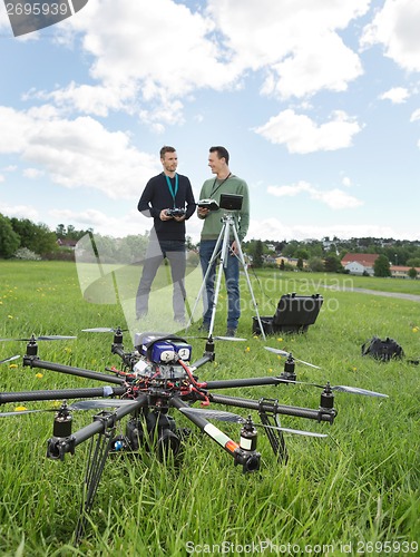
<svg viewBox="0 0 420 557">
<path fill-rule="evenodd" d="M 56 262 L 0 262 L 0 336 L 77 335 L 40 342 L 42 360 L 95 371 L 116 364 L 113 335 L 81 329 L 126 325 L 120 304 L 95 304 L 80 294 L 76 266 Z M 255 315 L 244 282 L 238 334 L 246 342 L 216 344 L 216 361 L 199 369 L 199 379 L 264 377 L 283 371 L 286 351 L 321 370 L 296 364 L 300 381 L 354 385 L 388 399 L 336 393 L 333 426 L 284 417 L 289 428 L 326 432 L 326 439 L 286 436 L 289 463 L 279 463 L 264 434 L 258 437 L 262 466 L 243 475 L 233 459 L 191 426 L 180 468 L 154 455 L 109 458 L 79 546 L 72 534 L 79 515 L 88 442 L 64 462 L 46 458 L 52 434 L 49 412 L 0 418 L 1 556 L 225 555 L 416 555 L 420 540 L 419 385 L 420 302 L 323 285 L 420 295 L 419 281 L 380 280 L 306 273 L 251 273 L 260 313 L 274 313 L 287 292 L 320 293 L 324 305 L 306 334 L 252 336 Z M 192 285 L 188 285 L 192 289 Z M 196 291 L 188 291 L 194 299 Z M 225 294 L 216 333 L 224 333 Z M 197 324 L 189 334 L 197 333 Z M 128 334 L 128 333 L 127 333 Z M 361 356 L 373 335 L 392 336 L 406 359 L 380 363 Z M 125 338 L 130 349 L 129 335 Z M 204 350 L 193 340 L 194 355 Z M 25 354 L 25 342 L 1 342 L 0 360 Z M 23 368 L 22 360 L 0 365 L 0 392 L 98 387 L 94 381 Z M 100 383 L 102 384 L 102 383 Z M 244 388 L 229 394 L 318 409 L 320 390 L 303 385 Z M 53 408 L 53 402 L 26 408 Z M 1 405 L 2 412 L 16 404 Z M 218 407 L 225 410 L 228 408 Z M 232 410 L 232 409 L 231 409 Z M 94 412 L 77 412 L 74 431 Z M 246 416 L 246 411 L 238 410 Z M 257 417 L 255 417 L 257 418 Z M 187 426 L 183 417 L 179 426 Z M 216 423 L 238 440 L 240 426 Z"/>
</svg>

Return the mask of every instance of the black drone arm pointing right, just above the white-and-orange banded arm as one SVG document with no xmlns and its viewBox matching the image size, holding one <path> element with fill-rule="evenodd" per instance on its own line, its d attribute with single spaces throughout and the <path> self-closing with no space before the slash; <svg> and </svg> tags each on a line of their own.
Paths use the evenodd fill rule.
<svg viewBox="0 0 420 557">
<path fill-rule="evenodd" d="M 328 421 L 330 423 L 332 423 L 335 418 L 334 409 L 328 411 L 321 408 L 319 410 L 313 410 L 311 408 L 299 408 L 299 407 L 277 404 L 277 402 L 272 402 L 272 401 L 240 399 L 236 397 L 228 397 L 225 394 L 212 394 L 212 393 L 208 393 L 208 399 L 211 402 L 216 402 L 217 404 L 226 404 L 228 407 L 237 407 L 237 408 L 248 408 L 250 410 L 263 411 L 274 414 L 295 416 L 296 418 L 306 418 L 309 420 L 316 420 L 316 421 Z"/>
</svg>

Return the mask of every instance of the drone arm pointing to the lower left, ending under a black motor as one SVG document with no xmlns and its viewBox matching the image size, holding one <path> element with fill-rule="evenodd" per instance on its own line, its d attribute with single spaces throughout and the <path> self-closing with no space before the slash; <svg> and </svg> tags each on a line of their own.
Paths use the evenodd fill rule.
<svg viewBox="0 0 420 557">
<path fill-rule="evenodd" d="M 52 437 L 48 440 L 47 456 L 53 460 L 64 459 L 66 452 L 74 452 L 75 448 L 90 439 L 96 433 L 104 433 L 108 428 L 113 428 L 116 422 L 121 420 L 125 416 L 138 410 L 147 404 L 146 394 L 140 394 L 133 404 L 127 404 L 117 408 L 114 413 L 106 413 L 105 416 L 95 416 L 92 423 L 85 428 L 79 429 L 69 437 Z"/>
</svg>

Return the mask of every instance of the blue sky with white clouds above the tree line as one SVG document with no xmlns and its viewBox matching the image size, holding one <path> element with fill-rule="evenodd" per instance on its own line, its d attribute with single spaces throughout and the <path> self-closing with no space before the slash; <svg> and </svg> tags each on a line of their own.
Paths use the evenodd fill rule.
<svg viewBox="0 0 420 557">
<path fill-rule="evenodd" d="M 418 0 L 89 0 L 14 38 L 1 2 L 0 213 L 143 234 L 160 147 L 198 198 L 224 145 L 246 240 L 419 240 L 419 29 Z"/>
</svg>

